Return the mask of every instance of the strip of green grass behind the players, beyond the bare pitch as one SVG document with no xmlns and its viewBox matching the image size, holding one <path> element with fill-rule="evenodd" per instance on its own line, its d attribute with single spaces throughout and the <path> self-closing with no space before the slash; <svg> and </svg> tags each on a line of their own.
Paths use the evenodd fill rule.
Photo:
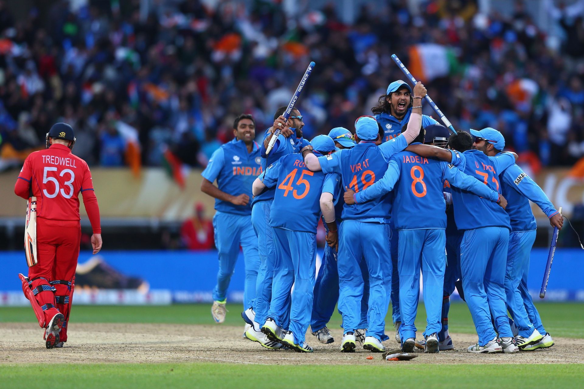
<svg viewBox="0 0 584 389">
<path fill-rule="evenodd" d="M 555 337 L 584 338 L 584 303 L 538 303 L 541 320 L 545 328 Z M 224 325 L 243 325 L 241 304 L 227 304 L 227 318 Z M 390 315 L 387 326 L 391 325 Z M 77 323 L 173 323 L 173 324 L 213 324 L 211 304 L 175 304 L 171 306 L 75 306 L 71 319 Z M 2 322 L 36 321 L 30 307 L 0 308 Z M 416 327 L 424 328 L 426 313 L 420 304 Z M 340 315 L 335 312 L 329 327 L 340 326 Z M 473 334 L 474 324 L 465 303 L 450 306 L 449 327 L 451 332 Z"/>
</svg>

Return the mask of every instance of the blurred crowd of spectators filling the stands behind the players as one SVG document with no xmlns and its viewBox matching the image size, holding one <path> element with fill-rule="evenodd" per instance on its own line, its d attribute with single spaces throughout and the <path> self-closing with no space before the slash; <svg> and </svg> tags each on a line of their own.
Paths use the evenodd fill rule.
<svg viewBox="0 0 584 389">
<path fill-rule="evenodd" d="M 425 84 L 455 128 L 495 127 L 535 166 L 584 155 L 580 0 L 538 2 L 545 29 L 522 1 L 509 1 L 507 16 L 474 1 L 420 0 L 416 13 L 407 1 L 372 1 L 351 24 L 332 2 L 296 12 L 276 0 L 81 3 L 16 19 L 0 0 L 0 170 L 43 147 L 57 121 L 74 127 L 75 154 L 90 166 L 160 166 L 169 152 L 205 166 L 235 115 L 253 114 L 260 138 L 311 60 L 305 136 L 353 130 L 403 79 L 391 54 L 407 65 L 420 43 L 454 54 L 449 74 Z"/>
</svg>

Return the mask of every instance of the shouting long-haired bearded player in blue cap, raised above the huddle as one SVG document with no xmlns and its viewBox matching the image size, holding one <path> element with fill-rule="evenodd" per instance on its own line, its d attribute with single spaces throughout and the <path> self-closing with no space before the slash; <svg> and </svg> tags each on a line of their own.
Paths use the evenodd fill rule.
<svg viewBox="0 0 584 389">
<path fill-rule="evenodd" d="M 412 87 L 402 80 L 396 80 L 387 87 L 385 94 L 382 94 L 377 101 L 377 106 L 371 108 L 375 120 L 377 120 L 384 134 L 381 142 L 390 141 L 401 134 L 402 125 L 409 121 L 412 114 L 412 107 L 421 105 L 421 100 L 413 101 L 411 96 Z M 437 124 L 433 118 L 422 115 L 422 127 Z M 391 308 L 392 320 L 395 326 L 395 341 L 399 343 L 399 325 L 401 318 L 399 316 L 399 277 L 397 273 L 398 263 L 398 232 L 395 230 L 393 223 L 391 227 L 391 262 L 393 265 L 392 285 L 391 285 Z"/>
</svg>

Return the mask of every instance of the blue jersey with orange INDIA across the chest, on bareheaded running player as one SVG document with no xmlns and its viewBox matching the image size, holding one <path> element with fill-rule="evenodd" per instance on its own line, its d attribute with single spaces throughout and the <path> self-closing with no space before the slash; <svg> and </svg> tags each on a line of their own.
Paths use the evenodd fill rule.
<svg viewBox="0 0 584 389">
<path fill-rule="evenodd" d="M 244 141 L 233 139 L 215 150 L 201 176 L 211 183 L 216 179 L 219 190 L 227 194 L 238 196 L 245 193 L 251 199 L 253 181 L 262 173 L 259 153 L 258 143 L 253 142 L 253 151 L 248 153 Z M 218 198 L 215 199 L 215 209 L 236 215 L 252 213 L 250 204 L 233 205 Z"/>
</svg>

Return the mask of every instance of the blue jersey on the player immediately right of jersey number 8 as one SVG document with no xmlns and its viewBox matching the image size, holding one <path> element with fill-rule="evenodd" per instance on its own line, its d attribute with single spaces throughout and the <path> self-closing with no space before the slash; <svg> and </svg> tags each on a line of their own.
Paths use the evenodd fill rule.
<svg viewBox="0 0 584 389">
<path fill-rule="evenodd" d="M 480 150 L 467 150 L 452 153 L 452 162 L 458 169 L 475 177 L 498 193 L 501 192 L 498 171 L 503 171 L 515 163 L 515 157 L 501 153 L 488 157 Z M 458 188 L 452 187 L 454 219 L 459 230 L 472 230 L 481 227 L 506 227 L 511 229 L 509 215 L 505 209 L 486 198 L 481 198 Z"/>
</svg>

